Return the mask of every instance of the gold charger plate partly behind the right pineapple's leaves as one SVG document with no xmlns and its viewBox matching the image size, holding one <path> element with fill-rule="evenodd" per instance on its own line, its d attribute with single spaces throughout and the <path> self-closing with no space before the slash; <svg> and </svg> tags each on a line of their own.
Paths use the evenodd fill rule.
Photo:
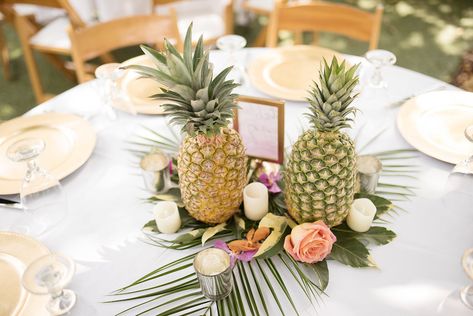
<svg viewBox="0 0 473 316">
<path fill-rule="evenodd" d="M 248 75 L 258 90 L 285 100 L 305 101 L 312 82 L 318 81 L 320 63 L 336 56 L 333 50 L 317 46 L 281 47 L 269 51 L 250 64 Z"/>
</svg>

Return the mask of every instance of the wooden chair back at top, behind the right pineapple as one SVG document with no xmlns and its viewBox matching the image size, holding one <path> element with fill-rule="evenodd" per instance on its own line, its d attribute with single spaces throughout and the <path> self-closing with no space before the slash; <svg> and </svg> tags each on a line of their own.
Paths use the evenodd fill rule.
<svg viewBox="0 0 473 316">
<path fill-rule="evenodd" d="M 378 46 L 383 7 L 378 5 L 374 13 L 353 8 L 345 4 L 277 1 L 271 13 L 267 46 L 276 47 L 279 30 L 293 32 L 312 31 L 342 34 L 365 41 L 369 49 Z"/>
</svg>

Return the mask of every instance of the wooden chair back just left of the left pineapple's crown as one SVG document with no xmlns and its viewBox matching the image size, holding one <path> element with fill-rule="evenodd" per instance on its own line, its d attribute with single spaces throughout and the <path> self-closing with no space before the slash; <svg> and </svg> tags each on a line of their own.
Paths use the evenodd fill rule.
<svg viewBox="0 0 473 316">
<path fill-rule="evenodd" d="M 164 38 L 175 40 L 182 51 L 176 15 L 146 15 L 117 19 L 81 29 L 70 29 L 72 57 L 79 82 L 93 79 L 85 62 L 114 49 L 139 44 L 160 47 Z"/>
</svg>

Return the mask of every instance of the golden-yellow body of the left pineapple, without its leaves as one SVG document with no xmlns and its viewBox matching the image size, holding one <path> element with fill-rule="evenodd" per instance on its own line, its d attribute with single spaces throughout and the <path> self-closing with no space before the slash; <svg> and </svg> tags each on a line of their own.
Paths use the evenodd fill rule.
<svg viewBox="0 0 473 316">
<path fill-rule="evenodd" d="M 189 214 L 209 224 L 231 218 L 242 202 L 246 163 L 245 147 L 233 129 L 224 128 L 210 137 L 186 137 L 178 155 L 178 172 Z"/>
</svg>

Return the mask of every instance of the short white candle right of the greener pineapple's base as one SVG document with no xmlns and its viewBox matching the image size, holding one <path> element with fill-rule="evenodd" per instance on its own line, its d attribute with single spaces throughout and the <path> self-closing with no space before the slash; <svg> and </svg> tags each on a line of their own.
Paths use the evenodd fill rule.
<svg viewBox="0 0 473 316">
<path fill-rule="evenodd" d="M 356 232 L 368 231 L 376 215 L 376 206 L 369 199 L 356 199 L 348 212 L 348 227 Z"/>
</svg>

